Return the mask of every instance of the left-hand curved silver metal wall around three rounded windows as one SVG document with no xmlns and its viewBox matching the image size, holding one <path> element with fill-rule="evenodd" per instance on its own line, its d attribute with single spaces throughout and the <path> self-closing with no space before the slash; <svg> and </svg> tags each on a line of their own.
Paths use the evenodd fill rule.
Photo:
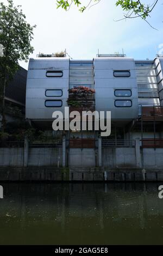
<svg viewBox="0 0 163 256">
<path fill-rule="evenodd" d="M 62 71 L 62 77 L 46 77 L 47 71 Z M 29 60 L 26 93 L 26 118 L 52 119 L 54 111 L 64 112 L 69 84 L 68 58 L 35 58 Z M 47 97 L 47 89 L 61 89 L 61 97 Z M 62 107 L 45 107 L 46 100 L 62 100 Z"/>
</svg>

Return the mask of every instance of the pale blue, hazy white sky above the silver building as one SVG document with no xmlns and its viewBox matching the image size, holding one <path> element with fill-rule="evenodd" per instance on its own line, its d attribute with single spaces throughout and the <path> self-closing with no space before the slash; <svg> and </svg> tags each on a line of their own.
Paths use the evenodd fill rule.
<svg viewBox="0 0 163 256">
<path fill-rule="evenodd" d="M 83 14 L 73 7 L 69 11 L 56 8 L 56 0 L 13 0 L 22 5 L 34 29 L 33 54 L 52 54 L 64 51 L 73 59 L 92 59 L 98 53 L 122 53 L 135 59 L 153 59 L 156 52 L 163 54 L 163 0 L 159 0 L 148 21 L 157 30 L 140 19 L 122 19 L 124 11 L 115 7 L 116 0 L 101 0 Z M 2 1 L 7 3 L 6 0 Z M 82 0 L 81 0 L 82 2 Z M 83 0 L 87 3 L 89 0 Z M 153 0 L 144 0 L 153 3 Z M 20 63 L 28 69 L 28 63 Z"/>
</svg>

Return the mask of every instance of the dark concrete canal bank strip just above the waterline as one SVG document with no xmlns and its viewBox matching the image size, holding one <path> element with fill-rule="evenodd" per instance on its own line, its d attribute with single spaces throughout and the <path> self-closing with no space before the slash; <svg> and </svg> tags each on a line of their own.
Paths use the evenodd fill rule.
<svg viewBox="0 0 163 256">
<path fill-rule="evenodd" d="M 163 169 L 127 167 L 0 167 L 0 181 L 159 182 L 163 181 Z"/>
</svg>

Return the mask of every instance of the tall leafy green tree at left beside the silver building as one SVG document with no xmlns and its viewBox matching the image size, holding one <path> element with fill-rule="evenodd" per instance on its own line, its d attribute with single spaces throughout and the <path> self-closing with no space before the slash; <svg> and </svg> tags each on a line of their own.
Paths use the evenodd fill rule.
<svg viewBox="0 0 163 256">
<path fill-rule="evenodd" d="M 5 87 L 18 69 L 19 60 L 28 60 L 34 48 L 30 45 L 33 29 L 26 22 L 21 5 L 14 6 L 12 0 L 8 4 L 0 3 L 0 45 L 3 54 L 0 57 L 0 108 L 2 114 L 2 131 L 5 127 L 4 96 Z"/>
</svg>

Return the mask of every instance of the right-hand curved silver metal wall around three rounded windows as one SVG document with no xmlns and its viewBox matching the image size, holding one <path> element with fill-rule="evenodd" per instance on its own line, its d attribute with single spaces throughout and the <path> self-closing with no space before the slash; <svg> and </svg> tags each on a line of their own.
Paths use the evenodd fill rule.
<svg viewBox="0 0 163 256">
<path fill-rule="evenodd" d="M 114 77 L 114 71 L 130 71 L 130 77 Z M 111 111 L 112 119 L 137 117 L 137 82 L 133 58 L 95 58 L 96 110 Z M 115 89 L 130 89 L 131 97 L 116 97 Z M 132 107 L 115 107 L 115 100 L 131 100 Z"/>
</svg>

